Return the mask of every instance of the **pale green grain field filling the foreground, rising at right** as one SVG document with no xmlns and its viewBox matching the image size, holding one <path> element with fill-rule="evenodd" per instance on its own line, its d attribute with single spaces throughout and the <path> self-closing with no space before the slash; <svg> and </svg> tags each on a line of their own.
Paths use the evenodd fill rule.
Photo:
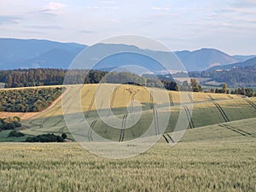
<svg viewBox="0 0 256 192">
<path fill-rule="evenodd" d="M 125 160 L 90 154 L 78 143 L 0 143 L 1 191 L 255 191 L 256 119 L 192 129 Z M 253 136 L 253 137 L 252 137 Z"/>
</svg>

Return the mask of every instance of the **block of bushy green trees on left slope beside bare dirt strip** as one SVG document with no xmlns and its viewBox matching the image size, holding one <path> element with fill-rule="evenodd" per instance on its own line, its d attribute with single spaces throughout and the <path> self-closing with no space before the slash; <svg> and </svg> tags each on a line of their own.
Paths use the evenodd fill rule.
<svg viewBox="0 0 256 192">
<path fill-rule="evenodd" d="M 0 111 L 39 112 L 61 96 L 62 88 L 0 90 Z"/>
</svg>

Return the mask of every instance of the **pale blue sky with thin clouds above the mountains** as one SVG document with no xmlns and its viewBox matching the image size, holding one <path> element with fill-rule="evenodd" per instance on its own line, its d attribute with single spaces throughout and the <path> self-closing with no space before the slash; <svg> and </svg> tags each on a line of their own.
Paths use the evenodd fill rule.
<svg viewBox="0 0 256 192">
<path fill-rule="evenodd" d="M 0 0 L 0 38 L 96 44 L 117 35 L 171 50 L 256 55 L 255 0 Z"/>
</svg>

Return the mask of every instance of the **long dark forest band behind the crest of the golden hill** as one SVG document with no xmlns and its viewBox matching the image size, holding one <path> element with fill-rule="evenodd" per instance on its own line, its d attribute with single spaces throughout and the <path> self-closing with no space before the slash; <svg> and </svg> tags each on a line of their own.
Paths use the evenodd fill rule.
<svg viewBox="0 0 256 192">
<path fill-rule="evenodd" d="M 68 75 L 67 75 L 68 73 Z M 67 79 L 65 79 L 67 75 Z M 84 79 L 85 77 L 85 79 Z M 63 84 L 137 84 L 147 85 L 149 87 L 162 87 L 167 90 L 177 90 L 177 84 L 170 79 L 157 79 L 154 77 L 142 77 L 134 73 L 113 72 L 108 73 L 98 70 L 84 69 L 55 69 L 55 68 L 38 68 L 38 69 L 17 69 L 0 71 L 0 82 L 5 84 L 5 88 L 29 87 L 40 85 L 58 85 Z"/>
</svg>

